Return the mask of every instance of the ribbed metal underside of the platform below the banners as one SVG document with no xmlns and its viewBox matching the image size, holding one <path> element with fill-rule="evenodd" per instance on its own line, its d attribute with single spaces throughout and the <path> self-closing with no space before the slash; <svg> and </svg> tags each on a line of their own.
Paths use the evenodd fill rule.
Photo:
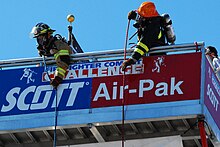
<svg viewBox="0 0 220 147">
<path fill-rule="evenodd" d="M 184 147 L 201 147 L 197 118 L 126 122 L 126 140 L 181 135 Z M 57 146 L 121 140 L 122 125 L 93 124 L 83 127 L 59 127 Z M 214 147 L 209 138 L 209 147 Z M 53 130 L 38 129 L 0 132 L 0 147 L 48 147 L 53 144 Z"/>
</svg>

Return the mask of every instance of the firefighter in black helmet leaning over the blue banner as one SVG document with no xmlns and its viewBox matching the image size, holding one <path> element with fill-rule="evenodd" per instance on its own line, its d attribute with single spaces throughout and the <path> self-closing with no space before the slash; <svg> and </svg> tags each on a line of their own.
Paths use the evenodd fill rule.
<svg viewBox="0 0 220 147">
<path fill-rule="evenodd" d="M 55 78 L 50 84 L 57 89 L 65 77 L 70 64 L 72 49 L 60 35 L 53 36 L 55 30 L 45 23 L 38 23 L 33 27 L 31 34 L 37 40 L 37 49 L 40 56 L 53 56 L 56 61 Z"/>
</svg>

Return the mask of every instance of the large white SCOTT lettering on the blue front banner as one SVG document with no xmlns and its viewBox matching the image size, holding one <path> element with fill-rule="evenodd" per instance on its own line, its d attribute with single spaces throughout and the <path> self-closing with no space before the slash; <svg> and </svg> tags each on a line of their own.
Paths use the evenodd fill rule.
<svg viewBox="0 0 220 147">
<path fill-rule="evenodd" d="M 77 97 L 78 91 L 84 87 L 84 85 L 89 85 L 89 82 L 75 82 L 75 83 L 63 83 L 59 86 L 57 91 L 57 107 L 61 101 L 62 95 L 64 95 L 64 90 L 70 92 L 65 93 L 65 106 L 73 106 L 75 99 Z M 6 103 L 2 105 L 1 112 L 9 112 L 15 107 L 21 111 L 26 110 L 40 110 L 47 107 L 55 107 L 55 96 L 52 96 L 52 86 L 51 85 L 41 85 L 41 86 L 29 86 L 23 91 L 20 87 L 12 88 L 6 95 Z M 68 95 L 68 94 L 69 95 Z M 31 98 L 31 100 L 30 100 Z M 49 103 L 53 99 L 52 103 Z M 29 101 L 29 102 L 28 102 Z M 52 104 L 49 106 L 49 104 Z"/>
</svg>

